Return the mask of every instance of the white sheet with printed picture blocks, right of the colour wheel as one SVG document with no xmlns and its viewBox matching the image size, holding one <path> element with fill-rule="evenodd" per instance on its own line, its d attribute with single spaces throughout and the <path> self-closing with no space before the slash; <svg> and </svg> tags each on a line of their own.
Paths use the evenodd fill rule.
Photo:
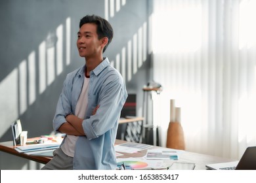
<svg viewBox="0 0 256 183">
<path fill-rule="evenodd" d="M 152 149 L 146 153 L 146 159 L 173 159 L 178 160 L 178 154 L 176 150 L 161 150 Z"/>
</svg>

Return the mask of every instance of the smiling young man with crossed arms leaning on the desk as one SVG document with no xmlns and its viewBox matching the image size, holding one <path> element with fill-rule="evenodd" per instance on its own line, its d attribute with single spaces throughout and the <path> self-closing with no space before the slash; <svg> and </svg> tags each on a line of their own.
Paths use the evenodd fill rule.
<svg viewBox="0 0 256 183">
<path fill-rule="evenodd" d="M 109 22 L 85 16 L 77 33 L 85 65 L 69 73 L 58 99 L 53 127 L 66 133 L 54 157 L 42 169 L 116 169 L 116 140 L 125 83 L 102 54 L 112 41 Z"/>
</svg>

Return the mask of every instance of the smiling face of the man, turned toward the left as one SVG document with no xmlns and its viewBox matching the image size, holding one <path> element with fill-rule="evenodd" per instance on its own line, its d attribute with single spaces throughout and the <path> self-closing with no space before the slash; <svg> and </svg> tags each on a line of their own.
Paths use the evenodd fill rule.
<svg viewBox="0 0 256 183">
<path fill-rule="evenodd" d="M 77 33 L 77 48 L 81 57 L 93 58 L 101 54 L 101 42 L 96 33 L 96 24 L 83 24 Z"/>
</svg>

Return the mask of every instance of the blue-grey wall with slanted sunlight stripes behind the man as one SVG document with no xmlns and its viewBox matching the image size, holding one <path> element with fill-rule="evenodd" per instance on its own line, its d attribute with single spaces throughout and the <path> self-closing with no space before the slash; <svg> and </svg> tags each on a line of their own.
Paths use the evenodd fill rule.
<svg viewBox="0 0 256 183">
<path fill-rule="evenodd" d="M 53 131 L 53 115 L 64 78 L 84 64 L 75 42 L 79 20 L 86 14 L 108 16 L 114 39 L 104 56 L 119 68 L 128 93 L 137 93 L 137 114 L 142 115 L 142 86 L 150 80 L 150 56 L 148 48 L 140 46 L 135 38 L 146 37 L 148 44 L 148 6 L 146 0 L 127 0 L 111 16 L 110 5 L 106 8 L 104 0 L 0 1 L 0 142 L 12 140 L 10 125 L 17 118 L 28 137 Z M 140 61 L 142 52 L 146 57 Z M 68 60 L 70 64 L 66 63 Z M 0 169 L 40 167 L 39 163 L 0 152 Z"/>
</svg>

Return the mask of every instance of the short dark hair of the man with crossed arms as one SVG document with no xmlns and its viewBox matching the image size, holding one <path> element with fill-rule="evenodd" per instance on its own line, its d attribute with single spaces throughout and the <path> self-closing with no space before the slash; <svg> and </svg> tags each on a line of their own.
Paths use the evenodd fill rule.
<svg viewBox="0 0 256 183">
<path fill-rule="evenodd" d="M 102 39 L 102 37 L 107 37 L 108 38 L 108 44 L 112 41 L 113 38 L 113 29 L 110 23 L 105 20 L 104 18 L 101 18 L 100 16 L 96 15 L 87 15 L 84 16 L 79 23 L 79 28 L 83 26 L 83 24 L 96 24 L 97 25 L 97 34 L 98 34 L 98 39 Z M 108 44 L 103 48 L 103 52 L 105 52 L 106 48 L 108 47 Z"/>
</svg>

